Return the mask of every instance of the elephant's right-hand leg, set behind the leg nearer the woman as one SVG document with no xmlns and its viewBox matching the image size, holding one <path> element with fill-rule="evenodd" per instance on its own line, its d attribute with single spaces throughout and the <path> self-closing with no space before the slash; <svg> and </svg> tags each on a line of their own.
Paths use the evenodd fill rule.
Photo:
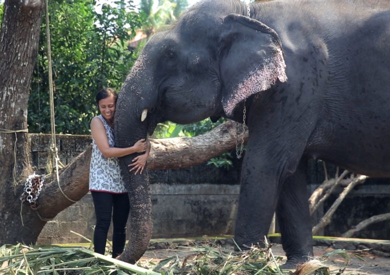
<svg viewBox="0 0 390 275">
<path fill-rule="evenodd" d="M 306 160 L 284 182 L 279 194 L 276 216 L 281 243 L 287 256 L 286 266 L 293 266 L 313 255 L 311 222 L 306 189 Z"/>
</svg>

